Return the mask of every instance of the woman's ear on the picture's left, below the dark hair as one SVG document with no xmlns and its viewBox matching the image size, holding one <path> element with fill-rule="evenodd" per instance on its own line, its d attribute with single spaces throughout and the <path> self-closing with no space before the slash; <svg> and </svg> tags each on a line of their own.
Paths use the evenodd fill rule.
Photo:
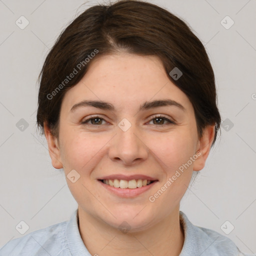
<svg viewBox="0 0 256 256">
<path fill-rule="evenodd" d="M 51 164 L 56 169 L 63 168 L 57 138 L 51 134 L 50 129 L 45 122 L 43 123 L 43 128 L 44 128 L 45 138 L 48 143 L 48 150 L 51 158 Z"/>
</svg>

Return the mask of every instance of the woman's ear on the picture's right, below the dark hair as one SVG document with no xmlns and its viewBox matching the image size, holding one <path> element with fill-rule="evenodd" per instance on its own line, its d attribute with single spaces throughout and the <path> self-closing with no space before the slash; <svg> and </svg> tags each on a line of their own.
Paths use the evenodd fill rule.
<svg viewBox="0 0 256 256">
<path fill-rule="evenodd" d="M 212 144 L 215 134 L 215 124 L 208 125 L 203 129 L 202 137 L 198 140 L 197 153 L 198 157 L 194 160 L 193 170 L 201 170 L 210 152 L 210 146 Z"/>
</svg>

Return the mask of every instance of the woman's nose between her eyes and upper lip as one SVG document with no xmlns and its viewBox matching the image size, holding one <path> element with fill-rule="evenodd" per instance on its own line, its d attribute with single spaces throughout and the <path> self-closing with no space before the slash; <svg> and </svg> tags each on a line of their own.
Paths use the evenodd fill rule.
<svg viewBox="0 0 256 256">
<path fill-rule="evenodd" d="M 131 125 L 126 131 L 116 127 L 116 135 L 111 139 L 108 151 L 112 161 L 132 165 L 145 160 L 148 157 L 148 152 L 149 149 L 135 125 Z"/>
</svg>

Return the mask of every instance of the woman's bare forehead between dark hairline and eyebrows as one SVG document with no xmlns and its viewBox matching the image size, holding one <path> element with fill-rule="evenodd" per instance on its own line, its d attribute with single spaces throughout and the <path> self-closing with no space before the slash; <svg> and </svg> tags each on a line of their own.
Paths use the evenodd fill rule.
<svg viewBox="0 0 256 256">
<path fill-rule="evenodd" d="M 115 54 L 92 59 L 84 77 L 69 89 L 65 105 L 84 99 L 102 100 L 113 105 L 140 105 L 141 102 L 169 98 L 191 107 L 187 96 L 173 84 L 156 56 Z"/>
</svg>

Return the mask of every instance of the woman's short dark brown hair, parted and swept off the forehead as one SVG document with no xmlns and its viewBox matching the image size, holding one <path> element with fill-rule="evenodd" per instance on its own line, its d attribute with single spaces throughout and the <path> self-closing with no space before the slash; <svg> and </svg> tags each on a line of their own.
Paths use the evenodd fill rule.
<svg viewBox="0 0 256 256">
<path fill-rule="evenodd" d="M 206 125 L 215 124 L 214 144 L 220 114 L 216 105 L 214 73 L 203 44 L 180 18 L 140 0 L 92 6 L 61 32 L 39 75 L 36 117 L 42 134 L 46 122 L 51 133 L 58 136 L 64 93 L 84 76 L 94 58 L 86 64 L 85 59 L 95 49 L 98 52 L 94 58 L 120 51 L 159 57 L 169 79 L 193 105 L 199 138 Z M 63 83 L 78 63 L 84 63 L 79 72 Z M 169 75 L 174 67 L 182 72 L 177 80 Z"/>
</svg>

